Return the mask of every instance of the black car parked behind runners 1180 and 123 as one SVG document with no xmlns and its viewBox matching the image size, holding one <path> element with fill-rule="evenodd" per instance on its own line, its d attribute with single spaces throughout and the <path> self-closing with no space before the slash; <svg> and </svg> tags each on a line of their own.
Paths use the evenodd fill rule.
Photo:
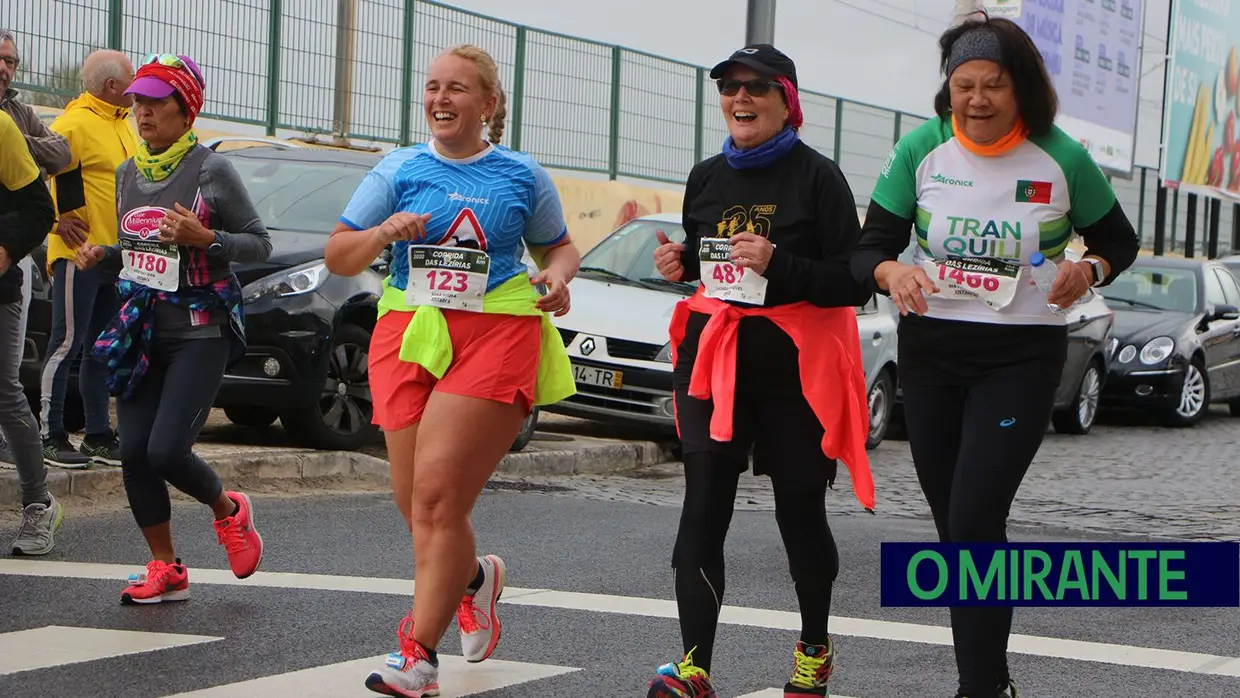
<svg viewBox="0 0 1240 698">
<path fill-rule="evenodd" d="M 371 424 L 367 357 L 388 258 L 384 253 L 357 276 L 340 276 L 327 272 L 324 249 L 357 185 L 382 154 L 250 138 L 205 145 L 232 161 L 272 236 L 265 262 L 233 265 L 242 284 L 248 350 L 224 374 L 216 407 L 247 426 L 279 419 L 303 448 L 360 449 L 377 434 Z M 42 274 L 32 281 L 22 360 L 22 383 L 36 414 L 51 327 L 45 254 L 40 249 L 33 255 Z M 68 393 L 66 428 L 77 431 L 84 419 L 76 367 Z M 526 420 L 513 450 L 529 441 L 537 419 L 536 412 Z"/>
</svg>

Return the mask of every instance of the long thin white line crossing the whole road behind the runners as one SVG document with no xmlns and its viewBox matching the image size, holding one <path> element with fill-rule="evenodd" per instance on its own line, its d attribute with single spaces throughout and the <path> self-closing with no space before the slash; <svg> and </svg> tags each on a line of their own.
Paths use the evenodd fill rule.
<svg viewBox="0 0 1240 698">
<path fill-rule="evenodd" d="M 134 569 L 134 565 L 0 559 L 0 575 L 15 574 L 62 579 L 76 578 L 123 580 Z M 397 596 L 410 595 L 414 588 L 413 581 L 408 579 L 279 572 L 259 572 L 249 579 L 242 580 L 233 577 L 233 574 L 228 570 L 202 568 L 191 569 L 190 580 L 191 584 L 353 591 Z M 641 596 L 615 596 L 609 594 L 583 594 L 578 591 L 557 591 L 553 589 L 518 589 L 515 586 L 507 586 L 503 590 L 503 599 L 501 603 L 589 612 L 610 612 L 663 619 L 677 617 L 676 601 L 671 600 L 646 599 Z M 723 612 L 719 616 L 719 622 L 746 627 L 765 627 L 771 630 L 796 631 L 801 629 L 801 619 L 796 612 L 740 606 L 724 606 Z M 833 635 L 869 637 L 874 640 L 951 646 L 951 629 L 939 625 L 831 616 L 831 632 Z M 1159 650 L 1154 647 L 1114 645 L 1107 642 L 1086 642 L 1081 640 L 1064 640 L 1059 637 L 1042 637 L 1035 635 L 1012 635 L 1008 641 L 1008 650 L 1022 655 L 1055 657 L 1079 662 L 1099 662 L 1126 667 L 1240 678 L 1240 657 L 1207 655 L 1202 652 L 1182 652 L 1178 650 Z"/>
</svg>

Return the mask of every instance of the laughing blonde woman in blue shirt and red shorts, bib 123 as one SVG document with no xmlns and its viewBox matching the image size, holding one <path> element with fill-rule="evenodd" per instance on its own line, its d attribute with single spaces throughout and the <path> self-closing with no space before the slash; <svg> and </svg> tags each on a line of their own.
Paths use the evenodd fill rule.
<svg viewBox="0 0 1240 698">
<path fill-rule="evenodd" d="M 531 409 L 574 392 L 547 314 L 568 312 L 580 255 L 551 176 L 498 145 L 505 102 L 485 51 L 440 55 L 427 72 L 432 140 L 376 165 L 327 243 L 327 268 L 345 275 L 392 245 L 368 368 L 418 593 L 399 652 L 366 679 L 387 696 L 439 696 L 435 648 L 454 611 L 467 661 L 495 651 L 506 569 L 475 557 L 470 512 Z"/>
</svg>

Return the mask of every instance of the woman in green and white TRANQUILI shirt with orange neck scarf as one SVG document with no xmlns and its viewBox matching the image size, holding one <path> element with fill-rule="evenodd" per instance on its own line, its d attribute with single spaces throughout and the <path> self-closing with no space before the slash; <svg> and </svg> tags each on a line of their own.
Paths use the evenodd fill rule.
<svg viewBox="0 0 1240 698">
<path fill-rule="evenodd" d="M 940 539 L 1006 542 L 1066 361 L 1066 319 L 1048 304 L 1109 284 L 1140 242 L 1106 176 L 1054 125 L 1054 87 L 1019 26 L 967 21 L 940 48 L 939 117 L 892 150 L 852 269 L 903 316 L 909 445 Z M 1086 253 L 1064 262 L 1074 232 Z M 1037 253 L 1058 263 L 1049 296 L 1030 276 Z M 1012 609 L 954 607 L 951 622 L 957 697 L 1014 696 Z"/>
</svg>

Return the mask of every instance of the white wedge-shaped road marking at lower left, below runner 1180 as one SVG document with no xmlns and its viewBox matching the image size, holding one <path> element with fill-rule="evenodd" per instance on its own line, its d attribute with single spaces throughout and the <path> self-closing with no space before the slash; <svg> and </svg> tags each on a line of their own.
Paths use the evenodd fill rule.
<svg viewBox="0 0 1240 698">
<path fill-rule="evenodd" d="M 0 676 L 218 640 L 223 637 L 60 625 L 19 630 L 0 635 Z"/>
</svg>

